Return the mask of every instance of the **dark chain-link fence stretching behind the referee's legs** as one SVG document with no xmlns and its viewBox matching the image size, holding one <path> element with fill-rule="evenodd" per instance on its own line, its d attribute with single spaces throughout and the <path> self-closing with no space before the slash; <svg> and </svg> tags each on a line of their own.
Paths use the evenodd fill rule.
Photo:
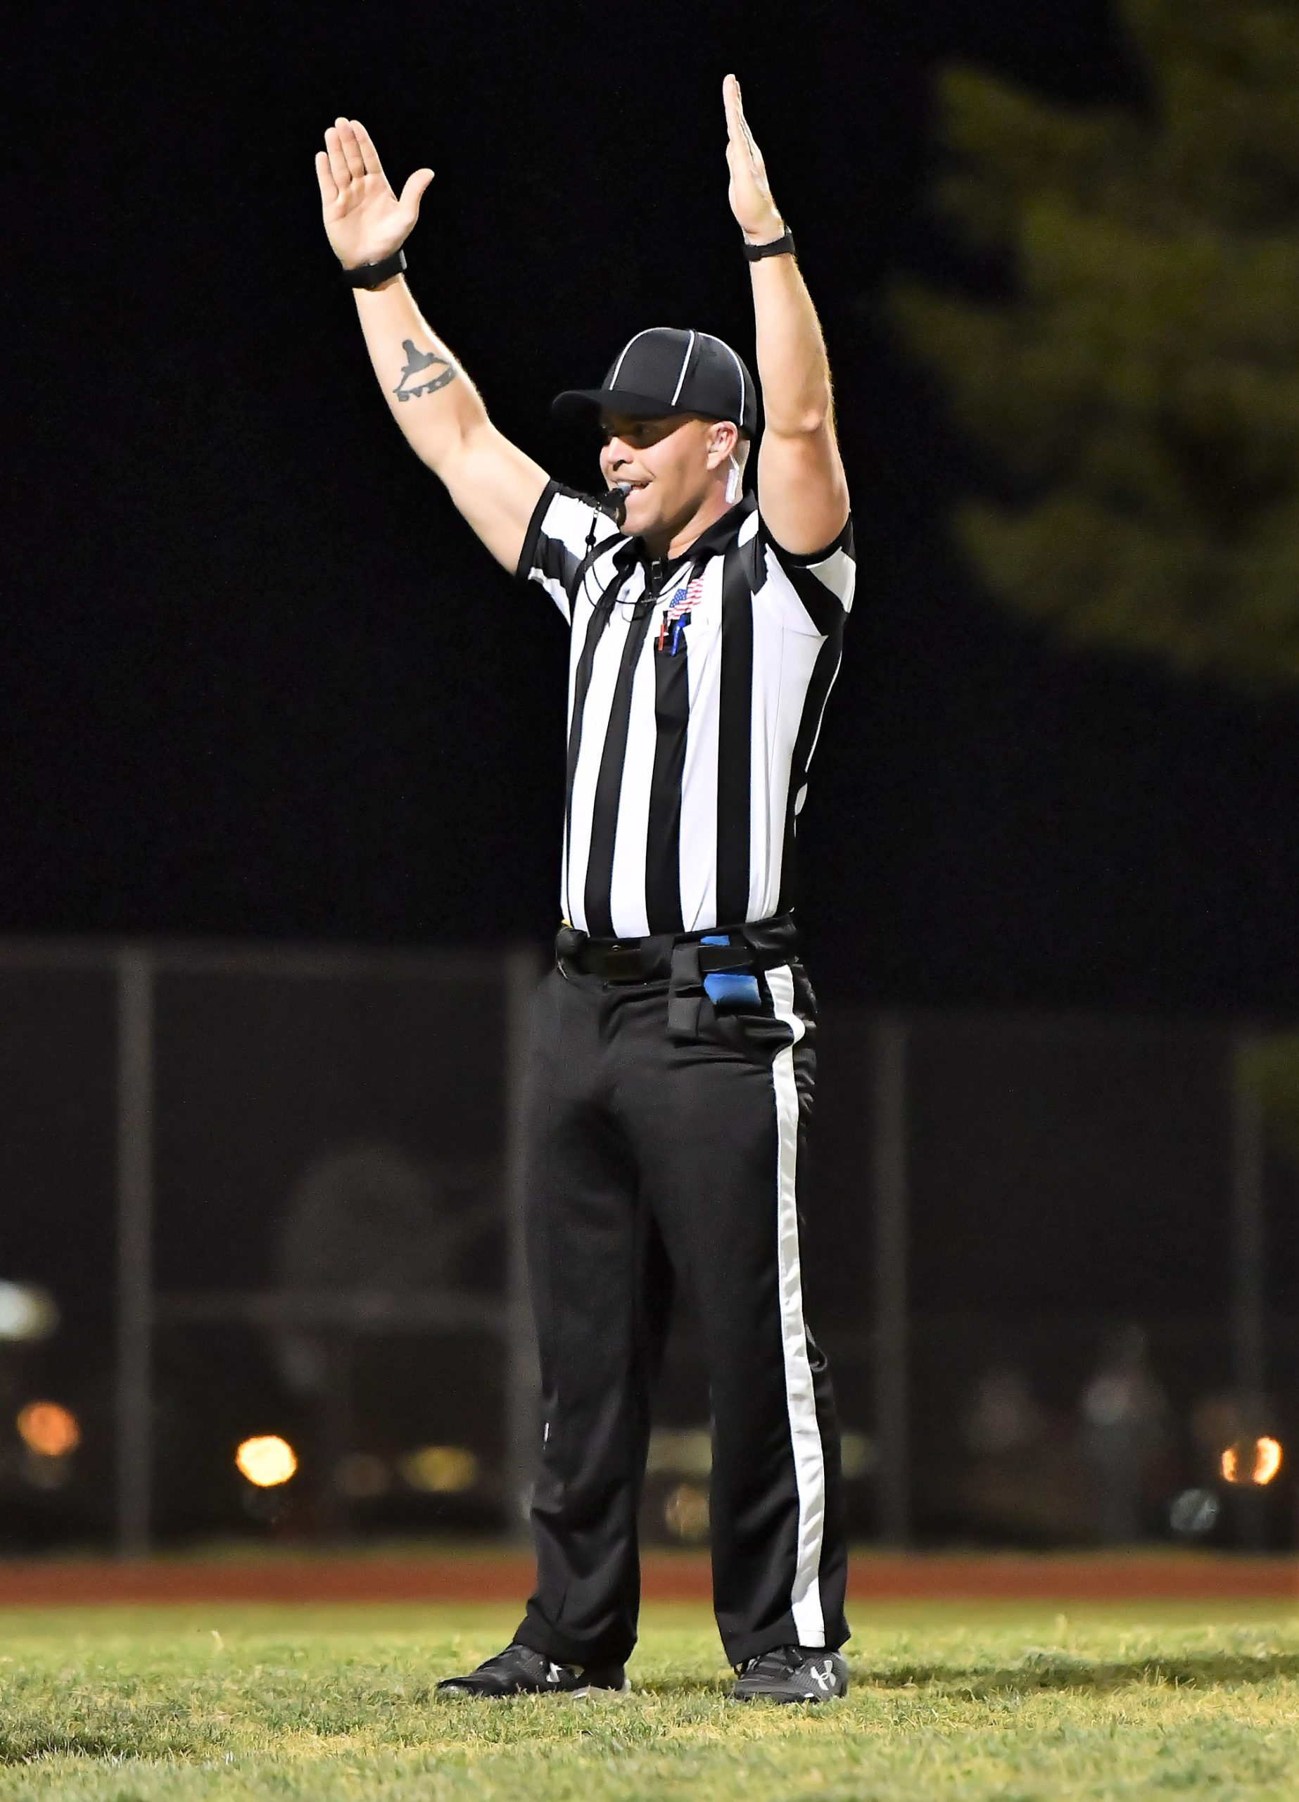
<svg viewBox="0 0 1299 1802">
<path fill-rule="evenodd" d="M 0 944 L 0 1335 L 4 1281 L 40 1303 L 0 1337 L 0 1546 L 521 1530 L 539 969 Z M 1299 1197 L 1236 1043 L 825 1007 L 807 1301 L 858 1537 L 1292 1543 Z M 703 1541 L 688 1296 L 656 1418 L 645 1532 Z"/>
</svg>

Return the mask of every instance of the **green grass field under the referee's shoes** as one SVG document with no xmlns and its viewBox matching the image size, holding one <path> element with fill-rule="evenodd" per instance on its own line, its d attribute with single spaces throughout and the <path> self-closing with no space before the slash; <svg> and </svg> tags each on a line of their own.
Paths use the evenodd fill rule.
<svg viewBox="0 0 1299 1802">
<path fill-rule="evenodd" d="M 854 1688 L 724 1699 L 703 1609 L 650 1607 L 623 1701 L 440 1703 L 499 1609 L 0 1615 L 0 1802 L 1299 1797 L 1299 1609 L 856 1607 Z"/>
</svg>

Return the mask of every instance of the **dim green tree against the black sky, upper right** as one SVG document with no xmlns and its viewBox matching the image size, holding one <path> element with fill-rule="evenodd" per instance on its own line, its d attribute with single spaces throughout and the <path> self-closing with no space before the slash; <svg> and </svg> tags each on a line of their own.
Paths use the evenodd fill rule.
<svg viewBox="0 0 1299 1802">
<path fill-rule="evenodd" d="M 957 515 L 1076 643 L 1299 679 L 1299 7 L 1119 0 L 1144 106 L 940 77 L 939 200 L 1004 297 L 894 294 L 995 452 Z"/>
</svg>

